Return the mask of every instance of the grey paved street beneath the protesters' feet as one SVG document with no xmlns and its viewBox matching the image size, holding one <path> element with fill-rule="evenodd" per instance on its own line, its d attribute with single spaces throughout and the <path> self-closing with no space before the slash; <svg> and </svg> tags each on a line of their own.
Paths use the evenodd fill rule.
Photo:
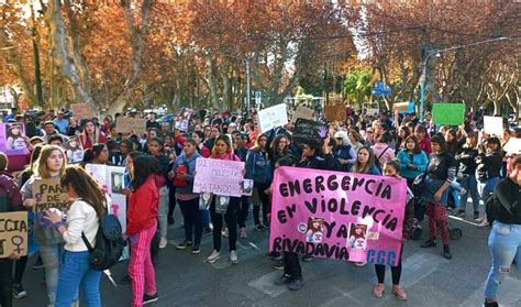
<svg viewBox="0 0 521 307">
<path fill-rule="evenodd" d="M 169 230 L 170 243 L 182 239 L 180 221 L 178 216 Z M 204 263 L 212 248 L 211 235 L 203 237 L 199 255 L 177 251 L 174 245 L 163 250 L 156 267 L 159 300 L 149 306 L 481 306 L 490 262 L 489 231 L 454 218 L 448 223 L 463 230 L 463 238 L 451 245 L 453 260 L 442 257 L 440 244 L 428 250 L 419 246 L 420 241 L 406 245 L 401 283 L 409 296 L 406 303 L 390 295 L 390 286 L 383 298 L 373 297 L 374 267 L 358 268 L 340 261 L 302 263 L 304 286 L 300 292 L 275 286 L 273 281 L 281 271 L 274 271 L 273 261 L 265 256 L 268 233 L 252 230 L 247 240 L 240 240 L 237 265 L 229 264 L 228 254 L 214 264 Z M 226 246 L 224 243 L 223 249 Z M 33 271 L 33 261 L 24 277 L 29 297 L 15 300 L 16 307 L 45 306 L 43 271 Z M 124 263 L 114 267 L 114 279 L 121 278 L 124 270 Z M 386 278 L 390 285 L 389 271 Z M 521 306 L 520 289 L 521 274 L 512 270 L 500 288 L 501 306 Z M 130 286 L 114 287 L 106 276 L 101 295 L 103 306 L 130 306 Z"/>
</svg>

